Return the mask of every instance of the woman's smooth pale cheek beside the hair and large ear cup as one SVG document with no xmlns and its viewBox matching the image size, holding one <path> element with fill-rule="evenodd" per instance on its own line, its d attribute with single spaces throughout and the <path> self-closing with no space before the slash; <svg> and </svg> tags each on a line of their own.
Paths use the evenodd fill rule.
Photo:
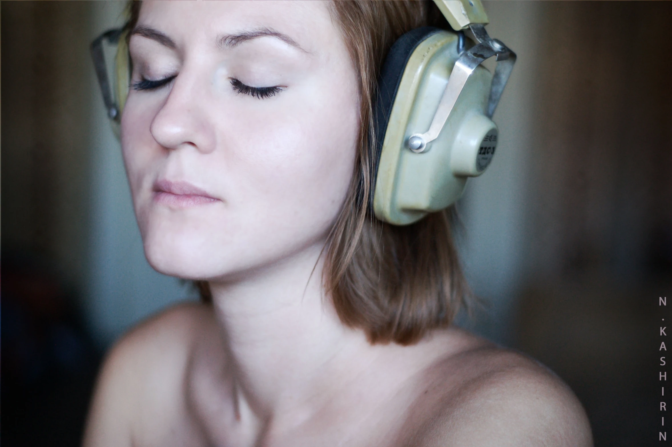
<svg viewBox="0 0 672 447">
<path fill-rule="evenodd" d="M 241 147 L 255 149 L 236 152 L 241 171 L 249 174 L 244 182 L 249 193 L 265 197 L 257 203 L 275 208 L 276 216 L 286 216 L 294 225 L 304 220 L 323 227 L 337 215 L 353 174 L 358 97 L 347 85 L 308 87 L 300 92 L 304 101 L 287 101 L 246 120 L 254 129 Z"/>
</svg>

